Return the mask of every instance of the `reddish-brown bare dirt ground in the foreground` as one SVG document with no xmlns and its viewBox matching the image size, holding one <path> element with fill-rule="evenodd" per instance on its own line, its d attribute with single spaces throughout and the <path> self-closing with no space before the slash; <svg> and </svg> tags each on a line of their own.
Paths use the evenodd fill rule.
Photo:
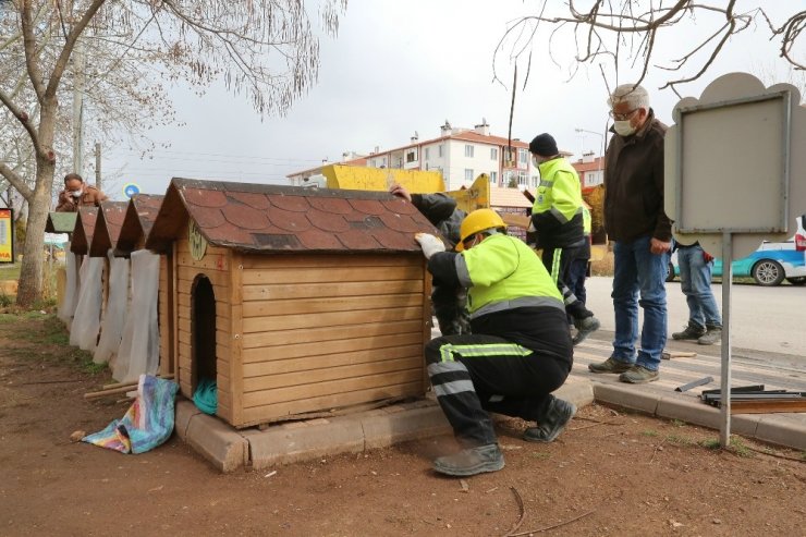
<svg viewBox="0 0 806 537">
<path fill-rule="evenodd" d="M 437 438 L 222 475 L 175 436 L 141 455 L 71 442 L 129 403 L 52 315 L 0 315 L 0 535 L 804 535 L 806 454 L 600 405 L 551 444 L 500 428 L 506 466 L 464 480 Z M 520 525 L 518 525 L 520 523 Z M 515 528 L 516 527 L 516 528 Z M 513 528 L 515 528 L 513 530 Z"/>
</svg>

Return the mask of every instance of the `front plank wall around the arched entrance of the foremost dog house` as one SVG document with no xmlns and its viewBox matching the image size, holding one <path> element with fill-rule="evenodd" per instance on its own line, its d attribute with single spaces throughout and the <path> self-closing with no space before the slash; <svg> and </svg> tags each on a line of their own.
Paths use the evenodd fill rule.
<svg viewBox="0 0 806 537">
<path fill-rule="evenodd" d="M 191 256 L 187 231 L 175 242 L 174 267 L 176 270 L 176 380 L 186 398 L 192 398 L 191 292 L 197 276 L 204 274 L 212 284 L 216 296 L 216 375 L 218 387 L 217 415 L 233 424 L 232 382 L 230 380 L 230 251 L 208 245 L 205 256 L 196 261 Z M 233 424 L 234 425 L 234 424 Z"/>
</svg>

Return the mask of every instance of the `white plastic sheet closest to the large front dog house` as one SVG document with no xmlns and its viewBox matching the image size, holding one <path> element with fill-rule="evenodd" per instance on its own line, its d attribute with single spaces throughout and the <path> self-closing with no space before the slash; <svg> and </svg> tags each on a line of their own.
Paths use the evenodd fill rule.
<svg viewBox="0 0 806 537">
<path fill-rule="evenodd" d="M 112 377 L 134 382 L 141 375 L 156 375 L 159 367 L 159 256 L 147 251 L 132 253 L 132 306 L 126 314 Z"/>
</svg>

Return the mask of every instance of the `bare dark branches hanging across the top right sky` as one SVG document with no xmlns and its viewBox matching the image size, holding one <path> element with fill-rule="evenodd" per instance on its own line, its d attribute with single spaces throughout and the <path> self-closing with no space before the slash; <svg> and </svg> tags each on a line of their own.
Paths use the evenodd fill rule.
<svg viewBox="0 0 806 537">
<path fill-rule="evenodd" d="M 802 2 L 787 2 L 792 14 L 780 24 L 772 22 L 761 2 L 748 10 L 737 11 L 736 0 L 722 2 L 699 2 L 694 0 L 589 0 L 579 2 L 567 0 L 562 3 L 542 0 L 538 2 L 536 14 L 513 21 L 502 36 L 493 56 L 493 73 L 498 80 L 500 58 L 509 53 L 509 60 L 517 64 L 532 64 L 535 39 L 544 29 L 549 35 L 549 47 L 563 32 L 573 35 L 575 62 L 599 65 L 602 73 L 615 76 L 612 86 L 618 85 L 621 68 L 640 66 L 637 80 L 640 83 L 650 69 L 669 72 L 669 80 L 661 87 L 671 88 L 677 96 L 677 86 L 698 80 L 713 61 L 729 47 L 729 40 L 745 30 L 766 32 L 770 40 L 778 42 L 780 57 L 795 70 L 806 70 L 806 10 Z M 584 7 L 582 7 L 584 4 Z M 681 27 L 697 24 L 705 30 L 701 39 L 692 34 L 681 34 Z M 671 28 L 677 33 L 672 37 Z M 661 38 L 674 39 L 679 56 L 671 61 L 656 63 L 656 51 Z M 798 46 L 797 44 L 801 42 Z M 553 52 L 553 51 L 551 51 Z M 799 54 L 799 56 L 798 56 Z M 528 72 L 528 71 L 527 71 Z M 506 77 L 509 78 L 509 76 Z M 524 84 L 528 82 L 528 74 Z"/>
</svg>

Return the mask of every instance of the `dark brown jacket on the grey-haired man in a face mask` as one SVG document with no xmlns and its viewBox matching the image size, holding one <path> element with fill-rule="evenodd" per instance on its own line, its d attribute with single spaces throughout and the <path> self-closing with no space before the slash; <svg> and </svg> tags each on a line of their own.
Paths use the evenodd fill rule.
<svg viewBox="0 0 806 537">
<path fill-rule="evenodd" d="M 663 210 L 663 137 L 667 127 L 649 117 L 632 136 L 613 134 L 604 155 L 604 228 L 613 241 L 651 235 L 672 239 Z"/>
</svg>

